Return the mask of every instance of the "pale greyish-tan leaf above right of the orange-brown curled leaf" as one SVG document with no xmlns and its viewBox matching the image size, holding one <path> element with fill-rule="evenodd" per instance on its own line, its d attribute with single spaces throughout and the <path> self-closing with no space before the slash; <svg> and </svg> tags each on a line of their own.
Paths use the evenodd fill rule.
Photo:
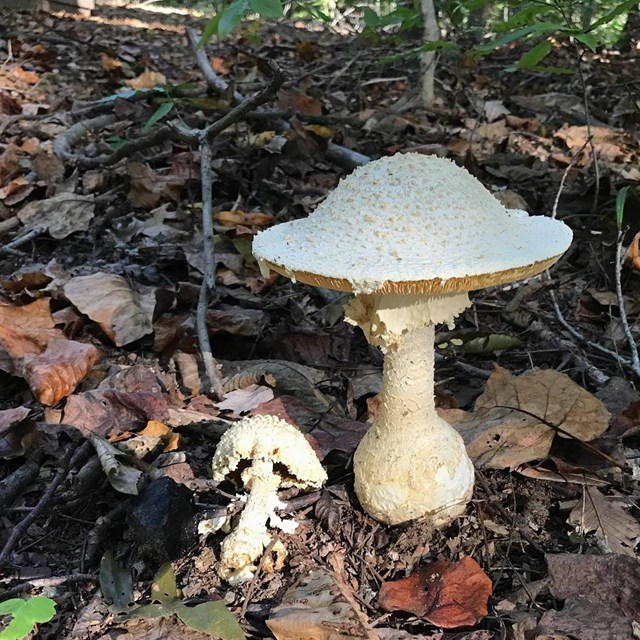
<svg viewBox="0 0 640 640">
<path fill-rule="evenodd" d="M 141 296 L 129 288 L 122 276 L 101 272 L 78 276 L 64 285 L 64 295 L 97 322 L 118 347 L 153 331 L 151 314 Z"/>
</svg>

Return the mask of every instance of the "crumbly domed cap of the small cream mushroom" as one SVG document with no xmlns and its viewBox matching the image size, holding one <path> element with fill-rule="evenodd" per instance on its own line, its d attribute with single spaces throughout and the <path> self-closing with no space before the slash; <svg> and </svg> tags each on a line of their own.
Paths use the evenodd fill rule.
<svg viewBox="0 0 640 640">
<path fill-rule="evenodd" d="M 213 457 L 213 478 L 222 481 L 256 458 L 273 462 L 274 473 L 282 476 L 281 487 L 315 489 L 327 479 L 304 434 L 288 422 L 269 415 L 243 418 L 224 432 Z"/>
</svg>

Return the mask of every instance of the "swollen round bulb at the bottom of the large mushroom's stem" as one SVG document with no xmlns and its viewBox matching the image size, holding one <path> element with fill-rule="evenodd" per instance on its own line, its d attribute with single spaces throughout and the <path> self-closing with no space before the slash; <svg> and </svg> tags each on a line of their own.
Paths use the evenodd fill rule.
<svg viewBox="0 0 640 640">
<path fill-rule="evenodd" d="M 374 424 L 354 457 L 355 490 L 364 510 L 389 525 L 421 519 L 443 527 L 464 513 L 474 470 L 458 433 L 442 418 L 425 437 L 401 429 L 380 438 Z"/>
</svg>

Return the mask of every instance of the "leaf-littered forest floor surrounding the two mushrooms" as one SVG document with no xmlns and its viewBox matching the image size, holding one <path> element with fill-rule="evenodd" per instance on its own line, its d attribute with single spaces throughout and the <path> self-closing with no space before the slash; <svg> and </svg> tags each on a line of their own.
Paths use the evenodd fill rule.
<svg viewBox="0 0 640 640">
<path fill-rule="evenodd" d="M 3 15 L 0 601 L 53 598 L 38 638 L 242 637 L 234 620 L 279 640 L 640 638 L 640 200 L 619 195 L 640 182 L 640 53 L 585 55 L 571 75 L 507 72 L 517 48 L 453 54 L 426 110 L 416 60 L 385 61 L 408 36 L 248 23 L 208 45 L 217 81 L 243 96 L 269 83 L 267 60 L 287 78 L 211 143 L 217 401 L 196 330 L 200 153 L 162 129 L 233 106 L 185 35 L 205 24 Z M 576 68 L 569 45 L 552 58 Z M 345 296 L 265 278 L 251 256 L 256 232 L 308 214 L 366 159 L 335 145 L 451 158 L 507 207 L 574 231 L 550 276 L 477 292 L 439 328 L 436 400 L 477 469 L 465 515 L 441 531 L 381 525 L 355 497 L 381 355 L 342 321 Z M 298 425 L 329 481 L 282 494 L 299 523 L 273 533 L 283 566 L 268 548 L 230 586 L 213 523 L 242 490 L 211 479 L 211 458 L 248 414 Z"/>
</svg>

